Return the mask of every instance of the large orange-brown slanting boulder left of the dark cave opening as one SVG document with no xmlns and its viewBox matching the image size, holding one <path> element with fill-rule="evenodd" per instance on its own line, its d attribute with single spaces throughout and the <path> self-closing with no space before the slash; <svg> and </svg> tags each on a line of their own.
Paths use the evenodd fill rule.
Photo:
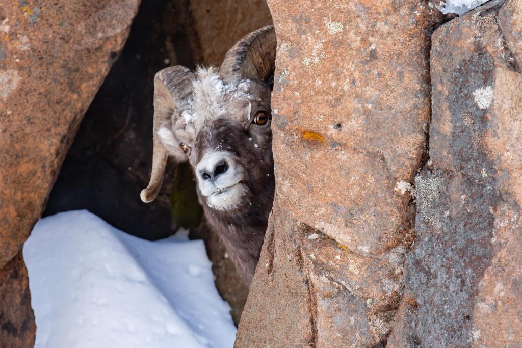
<svg viewBox="0 0 522 348">
<path fill-rule="evenodd" d="M 0 267 L 40 217 L 138 0 L 0 4 Z"/>
</svg>

